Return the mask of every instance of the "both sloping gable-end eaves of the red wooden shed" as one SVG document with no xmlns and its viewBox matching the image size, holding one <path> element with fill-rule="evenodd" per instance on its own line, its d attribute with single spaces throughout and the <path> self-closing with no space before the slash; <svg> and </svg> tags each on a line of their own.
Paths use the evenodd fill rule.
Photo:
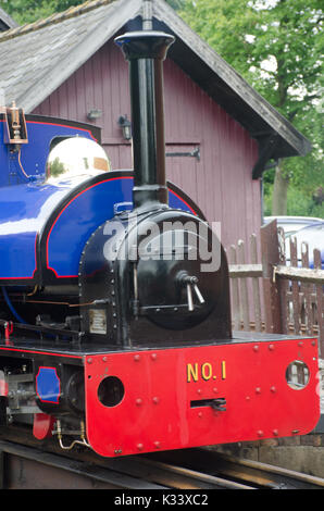
<svg viewBox="0 0 324 511">
<path fill-rule="evenodd" d="M 94 27 L 91 34 L 60 62 L 60 68 L 53 67 L 43 79 L 15 98 L 17 103 L 27 113 L 32 112 L 125 24 L 142 15 L 145 4 L 145 0 L 112 2 L 114 9 L 109 23 L 104 18 Z M 310 141 L 191 30 L 164 0 L 154 0 L 152 8 L 154 24 L 176 37 L 169 52 L 170 58 L 240 123 L 251 138 L 258 140 L 260 161 L 264 154 L 269 160 L 306 155 L 311 150 Z M 266 147 L 270 140 L 271 145 Z M 254 174 L 259 173 L 260 169 Z"/>
</svg>

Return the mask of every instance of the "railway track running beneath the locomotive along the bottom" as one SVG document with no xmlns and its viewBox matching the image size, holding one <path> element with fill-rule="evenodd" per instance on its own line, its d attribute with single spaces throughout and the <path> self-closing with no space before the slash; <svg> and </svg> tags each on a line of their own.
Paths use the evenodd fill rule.
<svg viewBox="0 0 324 511">
<path fill-rule="evenodd" d="M 36 448 L 30 439 L 21 444 L 0 437 L 0 488 L 324 489 L 324 479 L 208 449 L 102 459 L 89 450 L 62 456 L 55 448 Z"/>
</svg>

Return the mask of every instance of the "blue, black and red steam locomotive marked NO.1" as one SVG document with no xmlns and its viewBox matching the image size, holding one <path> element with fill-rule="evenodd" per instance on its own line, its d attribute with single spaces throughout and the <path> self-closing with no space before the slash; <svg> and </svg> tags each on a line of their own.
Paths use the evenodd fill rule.
<svg viewBox="0 0 324 511">
<path fill-rule="evenodd" d="M 225 251 L 165 179 L 173 36 L 115 42 L 134 172 L 111 170 L 91 125 L 1 112 L 0 435 L 116 457 L 306 434 L 316 340 L 232 332 Z"/>
</svg>

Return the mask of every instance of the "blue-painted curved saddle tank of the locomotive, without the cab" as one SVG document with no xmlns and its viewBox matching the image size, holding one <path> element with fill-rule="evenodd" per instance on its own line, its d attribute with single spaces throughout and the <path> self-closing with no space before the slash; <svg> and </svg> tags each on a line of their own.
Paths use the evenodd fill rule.
<svg viewBox="0 0 324 511">
<path fill-rule="evenodd" d="M 103 179 L 109 179 L 104 174 Z M 85 186 L 85 185 L 84 185 Z M 73 191 L 73 185 L 30 183 L 0 188 L 0 279 L 33 278 L 36 270 L 36 237 L 53 213 L 60 211 L 48 238 L 48 267 L 59 277 L 77 276 L 80 254 L 89 236 L 114 216 L 114 204 L 132 202 L 133 178 L 112 178 L 77 194 L 65 209 L 59 205 Z M 68 202 L 68 200 L 67 200 Z M 170 205 L 190 211 L 170 191 Z M 128 209 L 128 208 L 127 208 Z M 42 247 L 46 250 L 46 247 Z"/>
</svg>

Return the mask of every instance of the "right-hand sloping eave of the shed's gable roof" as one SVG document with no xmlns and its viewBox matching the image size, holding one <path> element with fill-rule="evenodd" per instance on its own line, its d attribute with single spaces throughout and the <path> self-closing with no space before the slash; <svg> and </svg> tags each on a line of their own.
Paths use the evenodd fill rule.
<svg viewBox="0 0 324 511">
<path fill-rule="evenodd" d="M 153 15 L 177 36 L 170 57 L 209 96 L 236 119 L 260 145 L 277 134 L 270 158 L 306 155 L 311 142 L 260 96 L 224 59 L 203 41 L 164 1 L 155 0 Z M 165 23 L 167 20 L 167 23 Z M 189 58 L 190 57 L 190 58 Z M 190 63 L 190 67 L 186 66 Z"/>
</svg>

